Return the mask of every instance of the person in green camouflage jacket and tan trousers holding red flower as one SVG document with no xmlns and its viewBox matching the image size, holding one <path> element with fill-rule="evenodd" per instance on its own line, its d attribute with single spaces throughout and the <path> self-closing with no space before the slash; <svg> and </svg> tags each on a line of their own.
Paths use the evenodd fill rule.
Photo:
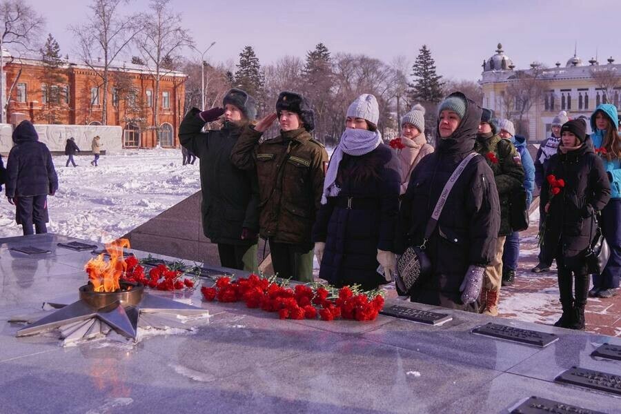
<svg viewBox="0 0 621 414">
<path fill-rule="evenodd" d="M 483 108 L 475 151 L 484 157 L 494 172 L 494 181 L 500 200 L 500 230 L 498 230 L 494 258 L 485 269 L 482 295 L 484 300 L 482 313 L 491 316 L 498 315 L 504 241 L 506 236 L 513 233 L 509 221 L 509 198 L 511 193 L 524 183 L 524 168 L 522 168 L 520 157 L 517 156 L 517 151 L 509 140 L 502 139 L 497 132 L 493 111 Z"/>
</svg>

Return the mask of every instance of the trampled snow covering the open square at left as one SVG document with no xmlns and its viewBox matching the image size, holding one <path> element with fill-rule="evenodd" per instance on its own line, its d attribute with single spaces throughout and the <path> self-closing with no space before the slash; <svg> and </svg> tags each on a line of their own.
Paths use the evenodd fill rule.
<svg viewBox="0 0 621 414">
<path fill-rule="evenodd" d="M 124 150 L 103 155 L 99 167 L 91 156 L 53 157 L 59 190 L 48 197 L 48 231 L 97 242 L 125 235 L 200 190 L 198 165 L 181 165 L 181 150 Z M 19 236 L 14 206 L 0 199 L 0 237 Z"/>
</svg>

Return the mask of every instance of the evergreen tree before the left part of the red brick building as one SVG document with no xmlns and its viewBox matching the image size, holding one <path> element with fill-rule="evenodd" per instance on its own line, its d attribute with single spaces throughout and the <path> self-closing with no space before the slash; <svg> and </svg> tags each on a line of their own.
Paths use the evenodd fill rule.
<svg viewBox="0 0 621 414">
<path fill-rule="evenodd" d="M 48 34 L 46 44 L 40 52 L 43 63 L 41 121 L 46 124 L 59 124 L 61 108 L 67 104 L 69 87 L 66 70 L 62 68 L 60 46 L 52 34 Z"/>
</svg>

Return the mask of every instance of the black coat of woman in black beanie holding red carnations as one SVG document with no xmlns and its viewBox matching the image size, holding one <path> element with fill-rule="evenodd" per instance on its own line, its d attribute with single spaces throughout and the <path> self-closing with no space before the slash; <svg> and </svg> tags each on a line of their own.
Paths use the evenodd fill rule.
<svg viewBox="0 0 621 414">
<path fill-rule="evenodd" d="M 549 175 L 563 179 L 565 186 L 551 197 Z M 594 212 L 602 210 L 610 199 L 610 181 L 604 164 L 593 152 L 591 139 L 577 150 L 550 158 L 541 188 L 541 204 L 550 203 L 544 226 L 544 244 L 575 273 L 587 273 L 584 250 L 595 235 Z"/>
</svg>

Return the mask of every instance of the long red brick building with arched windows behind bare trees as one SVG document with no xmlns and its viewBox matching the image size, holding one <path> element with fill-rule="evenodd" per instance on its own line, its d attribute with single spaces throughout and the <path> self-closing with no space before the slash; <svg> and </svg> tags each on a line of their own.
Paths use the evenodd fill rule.
<svg viewBox="0 0 621 414">
<path fill-rule="evenodd" d="M 155 80 L 145 66 L 122 63 L 110 68 L 108 102 L 103 108 L 102 79 L 88 66 L 65 62 L 50 77 L 50 69 L 41 60 L 5 57 L 5 61 L 3 98 L 10 99 L 9 122 L 30 119 L 34 124 L 101 125 L 106 110 L 106 124 L 123 128 L 124 148 L 155 147 L 158 133 L 162 147 L 179 146 L 177 128 L 184 115 L 187 78 L 182 72 L 170 72 L 159 83 L 157 132 Z"/>
</svg>

